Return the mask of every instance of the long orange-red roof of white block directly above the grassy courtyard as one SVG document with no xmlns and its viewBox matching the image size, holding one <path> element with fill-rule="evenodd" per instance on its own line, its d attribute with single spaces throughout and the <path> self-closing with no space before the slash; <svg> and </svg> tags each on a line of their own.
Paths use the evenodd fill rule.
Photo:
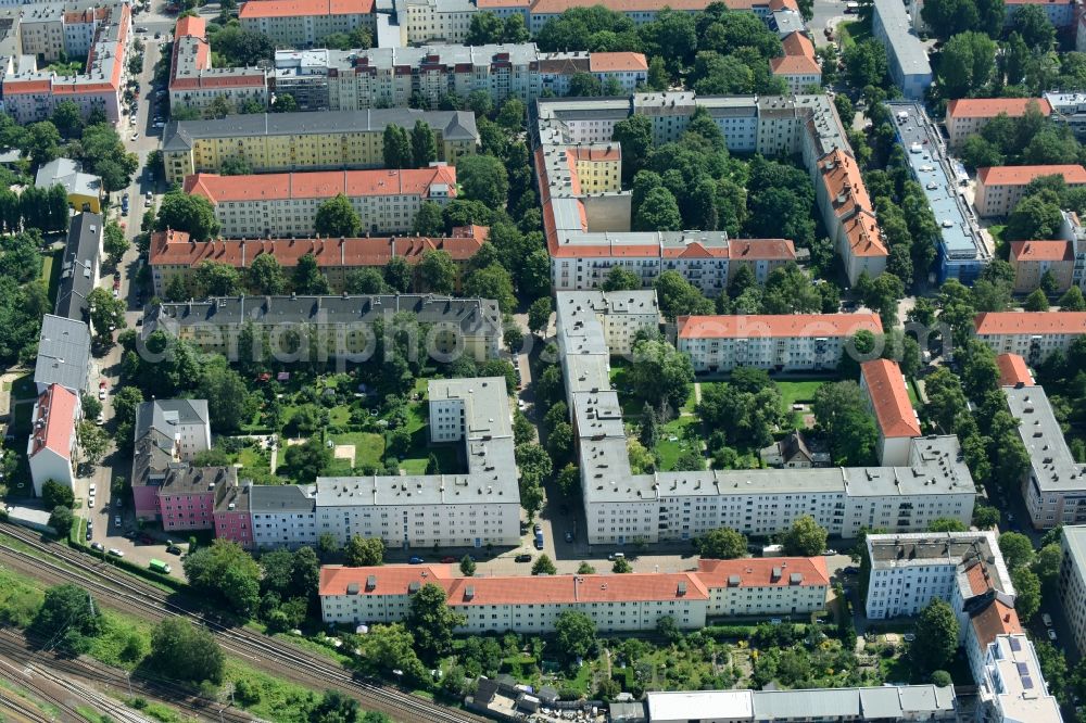
<svg viewBox="0 0 1086 723">
<path fill-rule="evenodd" d="M 776 337 L 853 337 L 882 333 L 876 314 L 763 314 L 750 316 L 680 316 L 679 339 L 759 339 Z"/>
</svg>

